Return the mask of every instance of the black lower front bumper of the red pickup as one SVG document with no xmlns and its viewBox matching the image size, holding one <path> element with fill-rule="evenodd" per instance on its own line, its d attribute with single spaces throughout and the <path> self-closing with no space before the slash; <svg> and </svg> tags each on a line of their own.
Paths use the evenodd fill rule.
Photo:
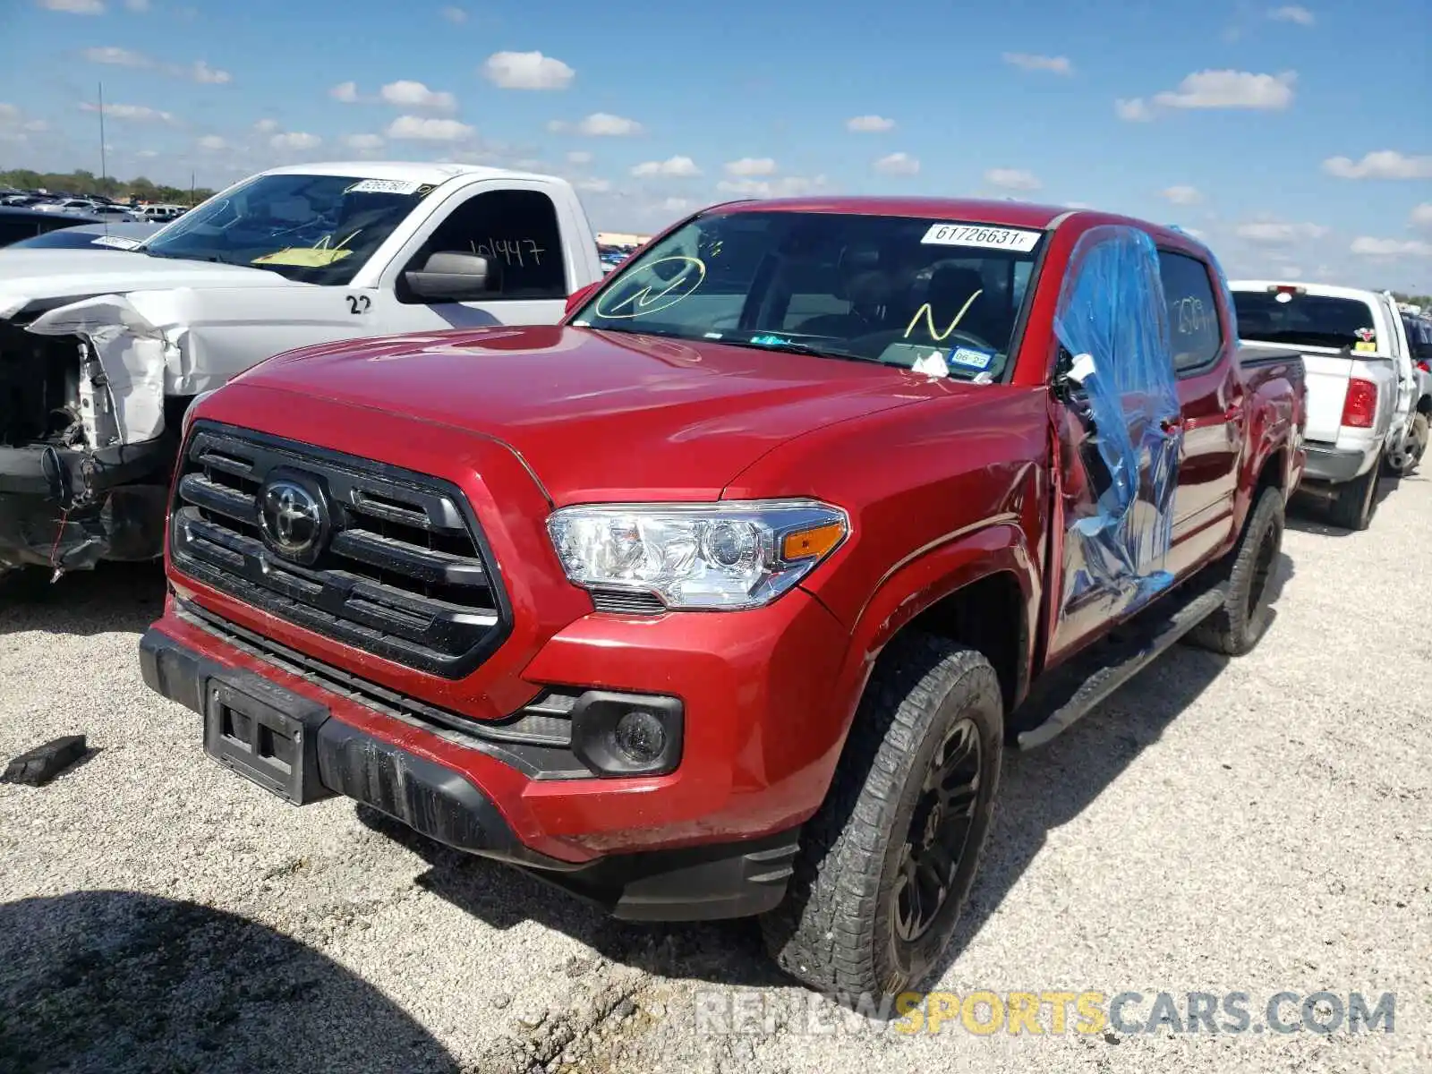
<svg viewBox="0 0 1432 1074">
<path fill-rule="evenodd" d="M 321 795 L 344 795 L 460 851 L 528 869 L 629 921 L 707 921 L 762 914 L 785 898 L 799 828 L 736 843 L 616 853 L 574 865 L 526 846 L 463 773 L 418 758 L 331 716 L 253 672 L 228 667 L 158 629 L 139 643 L 145 683 L 208 713 L 215 677 L 294 713 L 315 736 Z M 291 700 L 284 700 L 286 695 Z M 321 706 L 316 706 L 321 709 Z M 208 719 L 208 716 L 206 716 Z"/>
</svg>

